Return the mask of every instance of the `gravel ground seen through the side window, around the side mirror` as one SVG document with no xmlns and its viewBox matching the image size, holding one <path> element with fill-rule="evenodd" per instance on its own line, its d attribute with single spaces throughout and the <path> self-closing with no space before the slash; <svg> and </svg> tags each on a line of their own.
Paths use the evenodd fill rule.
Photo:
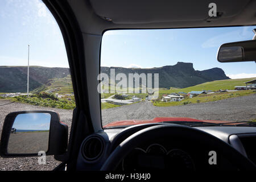
<svg viewBox="0 0 256 182">
<path fill-rule="evenodd" d="M 0 100 L 0 134 L 2 134 L 3 121 L 7 114 L 14 111 L 22 110 L 53 110 L 60 114 L 60 120 L 68 125 L 68 130 L 71 129 L 73 110 L 56 109 L 52 107 L 41 107 L 18 102 L 11 103 L 7 100 Z M 0 171 L 9 170 L 24 170 L 24 171 L 48 171 L 52 170 L 60 164 L 53 156 L 46 156 L 46 164 L 38 164 L 38 157 L 28 158 L 1 158 Z"/>
</svg>

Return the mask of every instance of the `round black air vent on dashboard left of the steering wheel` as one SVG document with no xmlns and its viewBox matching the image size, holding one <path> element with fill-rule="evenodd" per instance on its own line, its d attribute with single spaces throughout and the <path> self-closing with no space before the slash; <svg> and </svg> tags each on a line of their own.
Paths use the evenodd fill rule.
<svg viewBox="0 0 256 182">
<path fill-rule="evenodd" d="M 92 136 L 85 140 L 82 147 L 82 155 L 90 162 L 100 158 L 104 150 L 104 142 L 98 136 Z"/>
</svg>

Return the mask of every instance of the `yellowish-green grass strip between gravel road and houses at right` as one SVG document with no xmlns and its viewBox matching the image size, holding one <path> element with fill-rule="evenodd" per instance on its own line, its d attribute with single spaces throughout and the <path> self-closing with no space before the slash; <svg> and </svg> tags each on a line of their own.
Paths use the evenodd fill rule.
<svg viewBox="0 0 256 182">
<path fill-rule="evenodd" d="M 248 96 L 250 94 L 256 94 L 256 90 L 241 90 L 237 92 L 220 92 L 212 94 L 200 94 L 199 96 L 189 98 L 185 97 L 184 100 L 179 102 L 153 102 L 154 106 L 177 106 L 177 105 L 187 105 L 187 104 L 196 104 L 201 102 L 212 102 L 218 100 L 224 100 L 227 98 Z"/>
</svg>

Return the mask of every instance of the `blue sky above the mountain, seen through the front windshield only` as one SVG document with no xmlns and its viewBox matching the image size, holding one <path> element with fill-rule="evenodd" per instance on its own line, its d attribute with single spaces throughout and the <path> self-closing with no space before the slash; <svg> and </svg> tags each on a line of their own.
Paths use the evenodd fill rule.
<svg viewBox="0 0 256 182">
<path fill-rule="evenodd" d="M 152 68 L 193 63 L 196 70 L 222 68 L 232 77 L 256 77 L 256 64 L 219 63 L 223 43 L 251 40 L 253 27 L 112 30 L 102 38 L 101 65 Z"/>
</svg>

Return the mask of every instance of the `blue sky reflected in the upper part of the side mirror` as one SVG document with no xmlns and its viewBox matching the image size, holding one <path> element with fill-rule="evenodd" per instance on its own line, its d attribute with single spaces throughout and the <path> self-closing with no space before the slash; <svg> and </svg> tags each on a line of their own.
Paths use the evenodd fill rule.
<svg viewBox="0 0 256 182">
<path fill-rule="evenodd" d="M 26 113 L 18 114 L 13 127 L 17 130 L 49 130 L 51 114 Z"/>
</svg>

